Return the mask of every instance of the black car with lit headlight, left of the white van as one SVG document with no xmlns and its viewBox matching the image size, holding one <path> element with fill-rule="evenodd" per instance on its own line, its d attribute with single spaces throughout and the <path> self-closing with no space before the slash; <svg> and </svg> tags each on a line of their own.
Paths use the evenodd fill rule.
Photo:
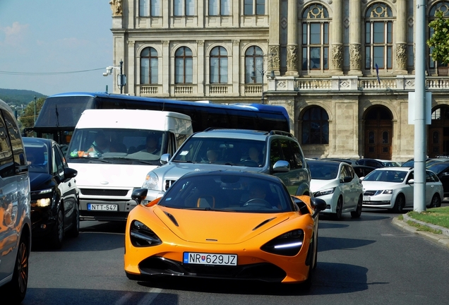
<svg viewBox="0 0 449 305">
<path fill-rule="evenodd" d="M 79 234 L 78 172 L 68 167 L 54 140 L 23 138 L 23 143 L 30 170 L 32 238 L 59 249 L 64 234 Z"/>
</svg>

